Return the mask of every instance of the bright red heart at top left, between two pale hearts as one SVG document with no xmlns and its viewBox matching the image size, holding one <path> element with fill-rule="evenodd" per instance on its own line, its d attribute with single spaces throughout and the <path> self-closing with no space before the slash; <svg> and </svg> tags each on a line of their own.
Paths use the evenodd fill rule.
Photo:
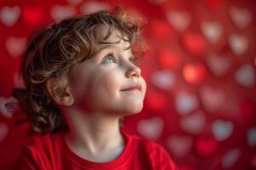
<svg viewBox="0 0 256 170">
<path fill-rule="evenodd" d="M 23 9 L 22 17 L 27 25 L 38 26 L 43 19 L 43 9 L 26 7 Z"/>
</svg>

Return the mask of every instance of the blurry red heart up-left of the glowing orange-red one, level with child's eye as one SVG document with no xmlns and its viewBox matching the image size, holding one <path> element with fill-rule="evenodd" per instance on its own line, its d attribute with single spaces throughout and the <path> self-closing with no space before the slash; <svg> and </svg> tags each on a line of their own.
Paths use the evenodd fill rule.
<svg viewBox="0 0 256 170">
<path fill-rule="evenodd" d="M 170 49 L 163 49 L 159 54 L 159 62 L 162 68 L 177 69 L 181 62 L 181 56 Z"/>
</svg>

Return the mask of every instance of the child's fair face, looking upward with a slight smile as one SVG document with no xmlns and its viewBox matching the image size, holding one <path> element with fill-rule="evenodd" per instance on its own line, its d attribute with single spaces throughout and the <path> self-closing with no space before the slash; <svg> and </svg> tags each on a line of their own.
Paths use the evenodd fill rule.
<svg viewBox="0 0 256 170">
<path fill-rule="evenodd" d="M 107 29 L 99 31 L 104 36 Z M 113 31 L 108 42 L 117 42 L 118 31 Z M 74 67 L 72 93 L 74 105 L 84 111 L 125 116 L 143 109 L 146 82 L 141 70 L 132 63 L 130 45 L 122 39 L 117 44 L 99 44 L 102 48 L 90 59 Z M 126 90 L 139 84 L 141 90 Z"/>
</svg>

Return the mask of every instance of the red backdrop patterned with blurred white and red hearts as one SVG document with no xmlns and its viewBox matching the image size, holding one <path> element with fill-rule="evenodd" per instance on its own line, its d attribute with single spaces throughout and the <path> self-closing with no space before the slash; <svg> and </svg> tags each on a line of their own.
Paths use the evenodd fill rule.
<svg viewBox="0 0 256 170">
<path fill-rule="evenodd" d="M 253 0 L 2 0 L 0 168 L 26 144 L 23 115 L 4 105 L 22 87 L 27 37 L 70 15 L 123 7 L 143 18 L 149 50 L 143 111 L 124 128 L 163 145 L 183 170 L 256 169 L 256 3 Z"/>
</svg>

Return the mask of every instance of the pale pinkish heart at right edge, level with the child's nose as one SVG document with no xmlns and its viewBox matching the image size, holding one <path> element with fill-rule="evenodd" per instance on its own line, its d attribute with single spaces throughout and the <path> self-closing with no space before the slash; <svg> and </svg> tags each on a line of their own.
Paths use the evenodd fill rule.
<svg viewBox="0 0 256 170">
<path fill-rule="evenodd" d="M 253 65 L 246 64 L 242 65 L 235 74 L 235 79 L 241 86 L 251 88 L 255 82 L 255 72 Z"/>
</svg>

